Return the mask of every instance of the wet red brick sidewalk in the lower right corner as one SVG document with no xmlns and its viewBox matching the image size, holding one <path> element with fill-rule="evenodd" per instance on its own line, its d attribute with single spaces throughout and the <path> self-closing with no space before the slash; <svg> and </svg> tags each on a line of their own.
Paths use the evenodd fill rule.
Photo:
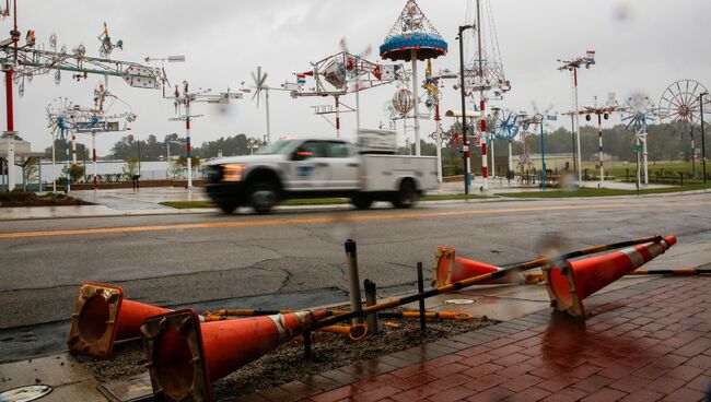
<svg viewBox="0 0 711 402">
<path fill-rule="evenodd" d="M 238 400 L 701 401 L 710 289 L 708 276 L 652 280 L 585 300 L 586 326 L 547 309 Z"/>
</svg>

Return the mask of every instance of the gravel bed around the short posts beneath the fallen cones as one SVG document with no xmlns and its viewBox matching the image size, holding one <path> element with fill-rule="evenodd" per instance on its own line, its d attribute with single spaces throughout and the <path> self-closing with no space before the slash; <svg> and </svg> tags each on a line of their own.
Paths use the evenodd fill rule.
<svg viewBox="0 0 711 402">
<path fill-rule="evenodd" d="M 393 327 L 383 323 L 393 323 Z M 328 371 L 334 368 L 388 355 L 442 338 L 475 331 L 492 326 L 497 321 L 483 318 L 470 320 L 428 320 L 427 330 L 420 332 L 419 320 L 381 319 L 382 330 L 377 335 L 353 342 L 345 335 L 312 333 L 312 358 L 304 358 L 301 338 L 242 367 L 212 385 L 215 400 L 231 400 L 234 397 L 277 387 L 305 376 Z M 397 327 L 395 327 L 397 326 Z M 148 359 L 140 341 L 115 345 L 110 359 L 95 359 L 77 356 L 77 359 L 101 382 L 126 378 L 147 371 Z"/>
</svg>

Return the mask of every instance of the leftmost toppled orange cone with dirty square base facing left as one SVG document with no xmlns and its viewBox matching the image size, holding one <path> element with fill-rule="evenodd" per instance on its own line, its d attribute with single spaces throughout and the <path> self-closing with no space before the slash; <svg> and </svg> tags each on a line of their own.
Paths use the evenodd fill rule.
<svg viewBox="0 0 711 402">
<path fill-rule="evenodd" d="M 108 357 L 115 341 L 140 336 L 147 317 L 168 311 L 125 299 L 120 286 L 84 283 L 71 315 L 67 346 L 73 352 Z"/>
</svg>

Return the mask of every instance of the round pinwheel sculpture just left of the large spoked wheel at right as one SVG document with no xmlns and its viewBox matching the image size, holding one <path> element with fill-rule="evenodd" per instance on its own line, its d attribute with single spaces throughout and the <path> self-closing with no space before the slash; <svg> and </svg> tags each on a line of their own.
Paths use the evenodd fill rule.
<svg viewBox="0 0 711 402">
<path fill-rule="evenodd" d="M 642 181 L 640 172 L 640 154 L 643 157 L 644 184 L 649 185 L 649 169 L 646 162 L 646 127 L 657 118 L 657 109 L 649 97 L 637 94 L 625 103 L 622 108 L 622 122 L 627 130 L 634 132 L 634 153 L 637 154 L 637 186 Z"/>
</svg>

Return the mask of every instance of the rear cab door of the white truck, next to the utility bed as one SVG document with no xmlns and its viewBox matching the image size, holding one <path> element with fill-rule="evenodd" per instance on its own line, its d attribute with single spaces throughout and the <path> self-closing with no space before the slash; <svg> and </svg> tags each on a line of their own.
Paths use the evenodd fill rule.
<svg viewBox="0 0 711 402">
<path fill-rule="evenodd" d="M 354 190 L 360 188 L 361 158 L 353 146 L 342 141 L 324 143 L 326 157 L 331 167 L 331 190 Z"/>
</svg>

